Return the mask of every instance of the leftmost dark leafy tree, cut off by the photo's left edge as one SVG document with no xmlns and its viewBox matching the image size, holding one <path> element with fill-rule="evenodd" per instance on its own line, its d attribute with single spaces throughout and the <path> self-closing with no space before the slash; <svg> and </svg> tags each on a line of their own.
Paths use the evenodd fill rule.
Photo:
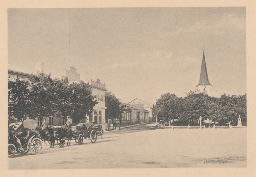
<svg viewBox="0 0 256 177">
<path fill-rule="evenodd" d="M 18 122 L 29 116 L 28 85 L 28 81 L 21 81 L 19 77 L 15 81 L 8 81 L 8 114 L 9 118 L 15 117 Z"/>
</svg>

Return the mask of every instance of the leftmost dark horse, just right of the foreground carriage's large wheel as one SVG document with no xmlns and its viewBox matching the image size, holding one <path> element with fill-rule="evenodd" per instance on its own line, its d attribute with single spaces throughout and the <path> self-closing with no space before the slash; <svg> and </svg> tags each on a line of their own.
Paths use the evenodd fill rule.
<svg viewBox="0 0 256 177">
<path fill-rule="evenodd" d="M 37 125 L 34 125 L 33 129 L 39 132 L 39 137 L 45 144 L 48 142 L 50 144 L 50 148 L 54 147 L 56 132 L 52 127 L 41 129 Z"/>
</svg>

